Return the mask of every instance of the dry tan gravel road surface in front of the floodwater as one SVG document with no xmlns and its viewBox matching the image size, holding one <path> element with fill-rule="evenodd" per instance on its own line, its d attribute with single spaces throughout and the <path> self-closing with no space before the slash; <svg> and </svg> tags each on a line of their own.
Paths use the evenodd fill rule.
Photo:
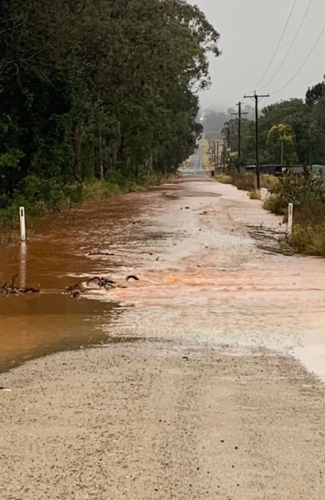
<svg viewBox="0 0 325 500">
<path fill-rule="evenodd" d="M 325 497 L 323 385 L 292 358 L 144 341 L 1 379 L 5 500 Z"/>
</svg>

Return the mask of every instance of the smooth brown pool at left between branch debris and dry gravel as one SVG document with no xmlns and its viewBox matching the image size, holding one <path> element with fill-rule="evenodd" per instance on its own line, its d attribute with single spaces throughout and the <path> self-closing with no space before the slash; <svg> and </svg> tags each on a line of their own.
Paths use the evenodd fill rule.
<svg viewBox="0 0 325 500">
<path fill-rule="evenodd" d="M 118 312 L 112 302 L 66 294 L 0 296 L 0 371 L 33 357 L 106 341 Z"/>
</svg>

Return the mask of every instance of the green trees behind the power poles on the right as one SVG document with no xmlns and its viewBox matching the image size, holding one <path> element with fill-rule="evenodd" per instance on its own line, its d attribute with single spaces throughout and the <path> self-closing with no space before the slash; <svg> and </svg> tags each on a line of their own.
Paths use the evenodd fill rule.
<svg viewBox="0 0 325 500">
<path fill-rule="evenodd" d="M 226 117 L 227 119 L 224 119 Z M 250 116 L 248 115 L 248 118 Z M 229 121 L 230 159 L 236 163 L 238 120 L 236 117 L 206 113 L 204 129 L 208 138 L 227 138 L 220 121 Z M 242 118 L 242 164 L 255 164 L 255 122 Z M 304 99 L 292 98 L 261 110 L 259 118 L 260 162 L 284 165 L 325 164 L 325 83 L 308 88 Z"/>
</svg>

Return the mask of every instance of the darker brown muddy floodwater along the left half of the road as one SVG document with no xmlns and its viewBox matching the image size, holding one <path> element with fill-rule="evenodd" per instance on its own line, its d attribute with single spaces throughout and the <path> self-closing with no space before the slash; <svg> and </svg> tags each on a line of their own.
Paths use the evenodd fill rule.
<svg viewBox="0 0 325 500">
<path fill-rule="evenodd" d="M 48 215 L 32 221 L 35 236 L 25 246 L 0 248 L 0 283 L 19 272 L 18 284 L 42 290 L 35 295 L 0 294 L 0 371 L 107 340 L 120 306 L 109 297 L 76 300 L 62 291 L 78 276 L 115 275 L 136 265 L 145 247 L 137 237 L 144 223 L 140 217 L 158 193 L 129 194 Z M 96 250 L 112 255 L 88 255 Z"/>
</svg>

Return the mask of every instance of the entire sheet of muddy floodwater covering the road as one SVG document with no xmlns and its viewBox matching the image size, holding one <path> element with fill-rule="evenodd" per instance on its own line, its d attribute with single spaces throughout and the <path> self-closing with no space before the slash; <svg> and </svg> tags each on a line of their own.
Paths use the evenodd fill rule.
<svg viewBox="0 0 325 500">
<path fill-rule="evenodd" d="M 108 337 L 154 337 L 291 352 L 325 379 L 324 261 L 265 251 L 252 226 L 285 229 L 245 192 L 188 171 L 37 221 L 26 248 L 0 249 L 0 281 L 20 271 L 42 290 L 0 295 L 0 369 Z M 126 283 L 130 273 L 139 281 Z M 62 294 L 95 275 L 123 287 Z"/>
</svg>

